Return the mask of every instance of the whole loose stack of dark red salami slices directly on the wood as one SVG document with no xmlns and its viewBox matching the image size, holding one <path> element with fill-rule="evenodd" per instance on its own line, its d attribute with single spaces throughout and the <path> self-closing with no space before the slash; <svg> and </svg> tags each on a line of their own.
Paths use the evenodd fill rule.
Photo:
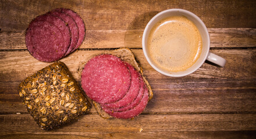
<svg viewBox="0 0 256 139">
<path fill-rule="evenodd" d="M 52 62 L 76 50 L 84 40 L 83 19 L 70 9 L 54 9 L 37 16 L 26 30 L 26 46 L 37 60 Z"/>
</svg>

